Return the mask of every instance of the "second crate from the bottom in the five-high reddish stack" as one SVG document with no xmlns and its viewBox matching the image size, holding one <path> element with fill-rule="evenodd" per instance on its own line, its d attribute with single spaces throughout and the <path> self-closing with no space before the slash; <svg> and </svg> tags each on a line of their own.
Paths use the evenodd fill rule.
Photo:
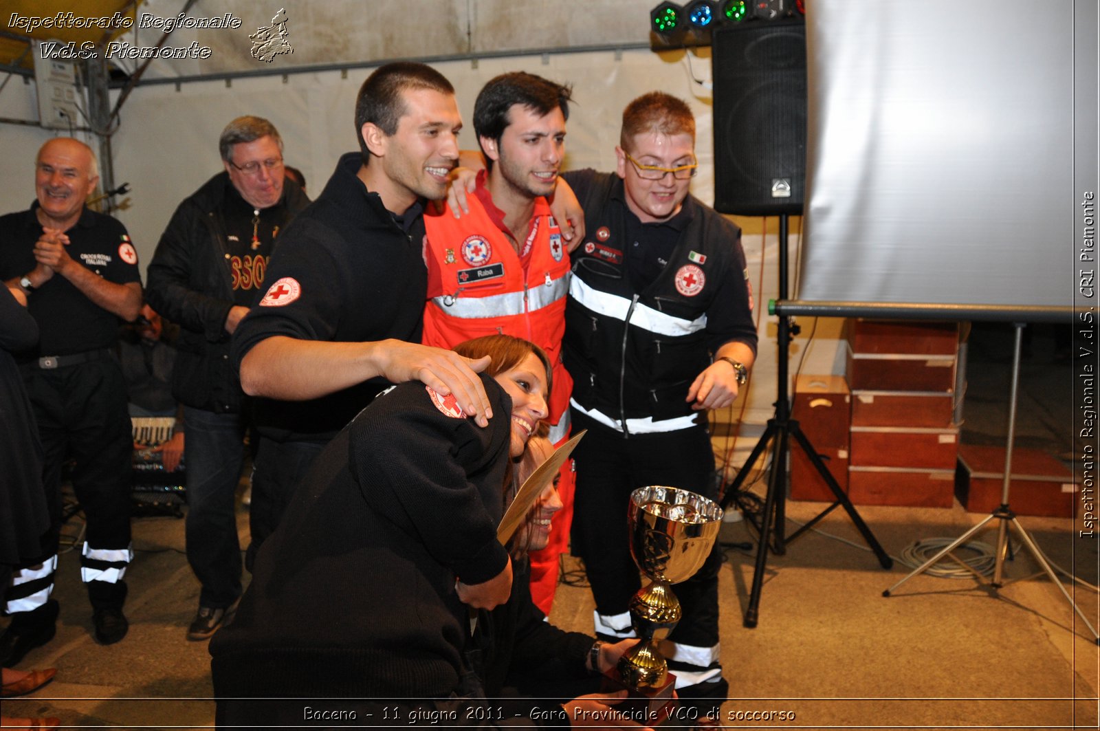
<svg viewBox="0 0 1100 731">
<path fill-rule="evenodd" d="M 958 427 L 854 426 L 854 467 L 901 467 L 955 471 Z"/>
</svg>

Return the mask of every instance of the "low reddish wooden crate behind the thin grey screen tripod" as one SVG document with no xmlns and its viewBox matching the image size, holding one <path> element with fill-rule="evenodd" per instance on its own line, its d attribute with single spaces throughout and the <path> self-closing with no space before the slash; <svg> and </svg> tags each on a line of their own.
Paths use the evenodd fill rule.
<svg viewBox="0 0 1100 731">
<path fill-rule="evenodd" d="M 974 513 L 992 512 L 1001 504 L 1004 489 L 1004 447 L 959 447 L 955 494 Z M 1078 485 L 1074 473 L 1038 449 L 1012 449 L 1009 506 L 1019 515 L 1074 517 Z"/>
</svg>

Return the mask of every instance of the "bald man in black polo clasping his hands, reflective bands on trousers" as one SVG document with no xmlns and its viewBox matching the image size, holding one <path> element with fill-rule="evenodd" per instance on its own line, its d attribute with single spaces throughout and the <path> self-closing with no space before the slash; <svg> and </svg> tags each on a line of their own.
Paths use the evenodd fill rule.
<svg viewBox="0 0 1100 731">
<path fill-rule="evenodd" d="M 69 458 L 87 519 L 80 575 L 96 640 L 112 644 L 129 629 L 122 605 L 123 576 L 133 558 L 133 441 L 125 384 L 112 353 L 119 320 L 135 319 L 141 308 L 141 275 L 122 223 L 84 205 L 98 182 L 91 149 L 55 138 L 38 150 L 37 200 L 30 210 L 0 218 L 0 279 L 26 293 L 38 324 L 38 348 L 19 360 L 45 450 L 53 519 L 42 555 L 20 567 L 6 593 L 12 621 L 0 637 L 4 665 L 54 636 L 58 605 L 50 592 L 62 526 L 62 463 Z"/>
</svg>

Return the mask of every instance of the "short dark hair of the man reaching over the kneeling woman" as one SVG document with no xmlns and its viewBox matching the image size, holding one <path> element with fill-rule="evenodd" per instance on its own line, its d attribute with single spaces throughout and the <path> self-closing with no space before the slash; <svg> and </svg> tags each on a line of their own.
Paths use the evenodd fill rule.
<svg viewBox="0 0 1100 731">
<path fill-rule="evenodd" d="M 406 89 L 431 89 L 440 94 L 454 94 L 447 77 L 427 64 L 402 61 L 380 66 L 366 77 L 355 99 L 355 137 L 363 155 L 363 164 L 371 162 L 371 151 L 363 139 L 363 124 L 371 122 L 386 135 L 397 132 L 397 123 L 405 114 Z"/>
</svg>

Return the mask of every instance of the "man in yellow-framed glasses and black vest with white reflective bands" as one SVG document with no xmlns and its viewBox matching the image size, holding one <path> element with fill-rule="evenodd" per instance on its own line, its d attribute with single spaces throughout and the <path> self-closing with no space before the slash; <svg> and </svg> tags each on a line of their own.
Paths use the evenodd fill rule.
<svg viewBox="0 0 1100 731">
<path fill-rule="evenodd" d="M 670 484 L 716 499 L 706 410 L 737 397 L 756 358 L 740 229 L 689 194 L 695 120 L 682 100 L 646 94 L 623 112 L 616 173 L 571 171 L 586 238 L 573 253 L 562 343 L 573 377 L 576 492 L 572 549 L 596 600 L 597 636 L 634 636 L 639 588 L 625 506 Z M 666 654 L 684 702 L 728 696 L 718 645 L 715 546 L 676 587 L 683 619 Z"/>
</svg>

